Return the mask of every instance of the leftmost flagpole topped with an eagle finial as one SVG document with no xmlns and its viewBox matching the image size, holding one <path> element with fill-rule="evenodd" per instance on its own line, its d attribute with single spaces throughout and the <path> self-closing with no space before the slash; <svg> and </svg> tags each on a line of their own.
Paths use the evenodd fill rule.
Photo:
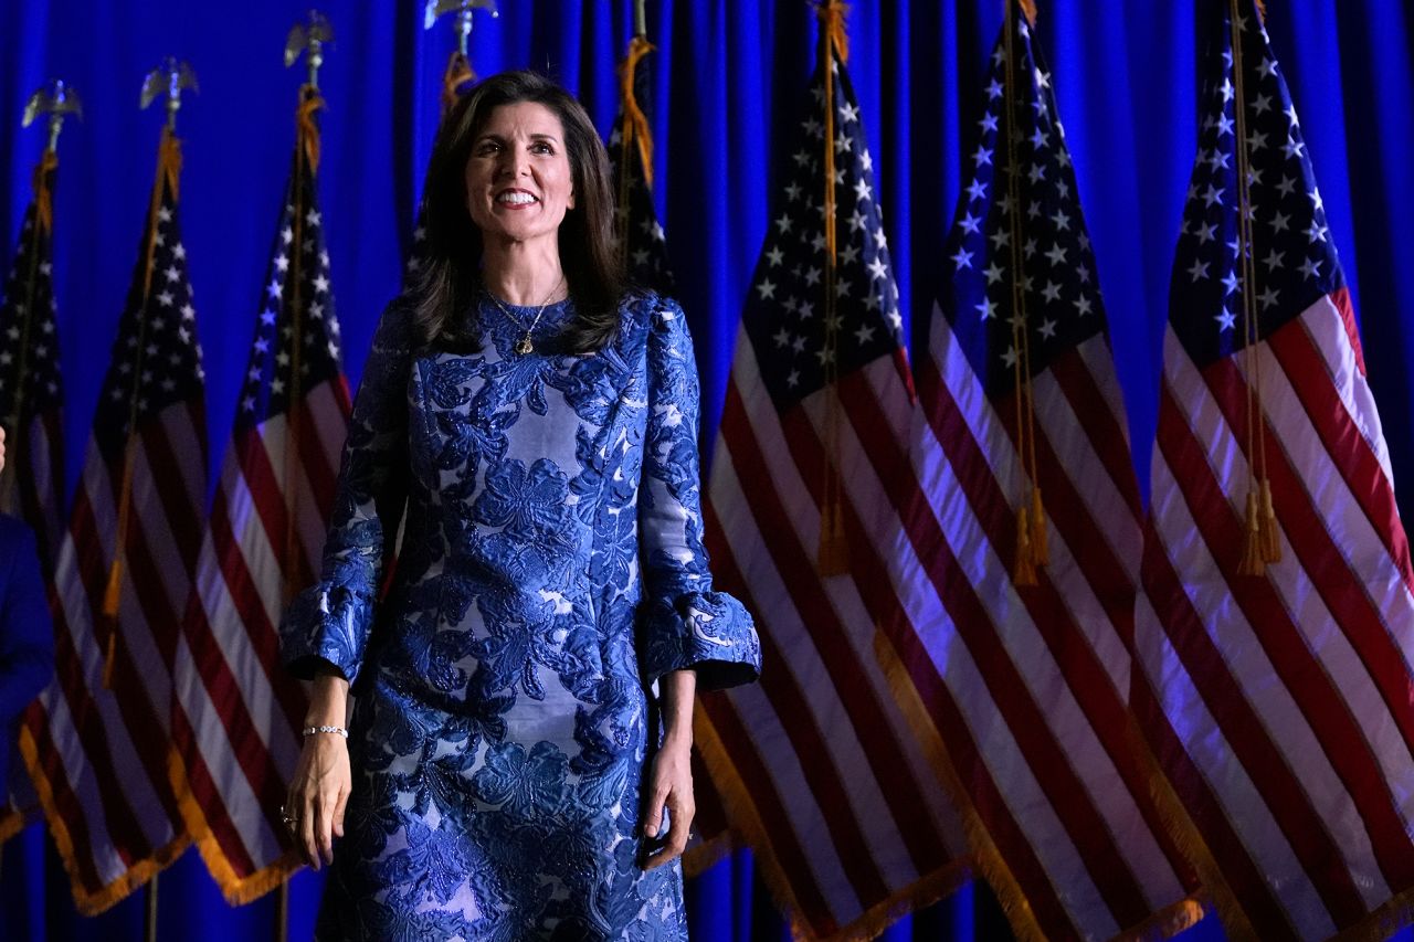
<svg viewBox="0 0 1414 942">
<path fill-rule="evenodd" d="M 65 85 L 62 79 L 55 79 L 51 85 L 38 89 L 30 96 L 28 103 L 24 106 L 24 116 L 20 119 L 20 126 L 28 127 L 40 115 L 49 116 L 49 141 L 40 157 L 38 165 L 34 168 L 34 223 L 30 228 L 30 270 L 24 279 L 24 307 L 20 315 L 20 369 L 16 373 L 18 382 L 14 388 L 14 409 L 7 416 L 8 421 L 6 423 L 13 431 L 13 438 L 6 441 L 8 461 L 6 461 L 4 470 L 0 471 L 0 506 L 17 511 L 17 516 L 24 516 L 23 512 L 18 512 L 23 508 L 11 508 L 10 498 L 14 482 L 20 477 L 20 451 L 24 447 L 25 438 L 20 423 L 24 421 L 25 376 L 30 372 L 27 361 L 30 355 L 30 327 L 34 322 L 35 279 L 40 270 L 40 239 L 42 232 L 54 231 L 54 194 L 49 190 L 49 174 L 59 163 L 58 147 L 59 132 L 64 130 L 64 116 L 78 115 L 83 117 L 83 103 L 79 100 L 78 93 Z M 21 494 L 17 499 L 23 501 L 24 495 Z"/>
</svg>

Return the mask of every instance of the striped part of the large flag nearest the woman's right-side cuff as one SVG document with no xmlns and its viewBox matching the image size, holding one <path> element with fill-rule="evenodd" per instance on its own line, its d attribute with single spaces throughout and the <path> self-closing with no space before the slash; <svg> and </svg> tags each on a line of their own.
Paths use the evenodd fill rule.
<svg viewBox="0 0 1414 942">
<path fill-rule="evenodd" d="M 885 356 L 843 380 L 833 458 L 846 487 L 847 576 L 814 566 L 829 393 L 778 413 L 744 330 L 713 460 L 713 571 L 756 617 L 764 670 L 759 685 L 704 697 L 704 713 L 740 785 L 725 795 L 728 812 L 754 822 L 748 836 L 810 938 L 880 925 L 889 904 L 940 885 L 964 846 L 875 656 L 875 627 L 904 611 L 888 571 L 905 540 L 889 504 L 894 470 L 867 451 L 874 438 L 902 451 L 902 369 Z"/>
</svg>

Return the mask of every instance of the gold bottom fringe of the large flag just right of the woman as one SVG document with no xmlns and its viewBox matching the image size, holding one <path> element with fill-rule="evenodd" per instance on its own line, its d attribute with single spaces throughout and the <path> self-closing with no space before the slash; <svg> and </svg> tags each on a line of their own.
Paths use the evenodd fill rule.
<svg viewBox="0 0 1414 942">
<path fill-rule="evenodd" d="M 701 750 L 703 762 L 711 775 L 717 791 L 721 793 L 723 808 L 727 819 L 756 851 L 756 863 L 761 866 L 761 876 L 771 891 L 782 917 L 790 925 L 790 936 L 809 942 L 863 942 L 878 936 L 894 922 L 909 912 L 929 907 L 947 895 L 952 895 L 967 880 L 971 878 L 971 867 L 966 857 L 952 860 L 937 870 L 919 877 L 912 885 L 882 900 L 848 925 L 836 928 L 829 935 L 817 935 L 802 915 L 799 902 L 790 891 L 790 881 L 781 867 L 765 825 L 756 813 L 755 802 L 741 781 L 737 767 L 727 748 L 717 738 L 717 730 L 706 711 L 699 710 L 693 720 L 694 738 Z"/>
</svg>

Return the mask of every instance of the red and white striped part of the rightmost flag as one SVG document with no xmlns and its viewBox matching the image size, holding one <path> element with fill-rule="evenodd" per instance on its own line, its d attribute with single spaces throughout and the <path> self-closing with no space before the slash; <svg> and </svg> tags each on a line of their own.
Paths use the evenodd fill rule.
<svg viewBox="0 0 1414 942">
<path fill-rule="evenodd" d="M 1263 577 L 1237 574 L 1257 380 Z M 1152 494 L 1135 707 L 1247 919 L 1318 939 L 1414 900 L 1414 573 L 1345 289 L 1203 369 L 1169 331 Z"/>
</svg>

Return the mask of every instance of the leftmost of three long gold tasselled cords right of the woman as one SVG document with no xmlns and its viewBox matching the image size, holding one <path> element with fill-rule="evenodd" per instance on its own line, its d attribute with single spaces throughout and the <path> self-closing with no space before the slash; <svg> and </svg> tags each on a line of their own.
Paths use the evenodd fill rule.
<svg viewBox="0 0 1414 942">
<path fill-rule="evenodd" d="M 834 458 L 840 451 L 840 388 L 834 352 L 839 347 L 836 317 L 836 266 L 839 242 L 834 226 L 834 57 L 848 58 L 844 4 L 827 0 L 816 7 L 820 17 L 820 68 L 824 75 L 824 495 L 820 504 L 820 546 L 816 559 L 820 576 L 850 571 L 850 547 L 844 536 L 844 481 Z"/>
</svg>

